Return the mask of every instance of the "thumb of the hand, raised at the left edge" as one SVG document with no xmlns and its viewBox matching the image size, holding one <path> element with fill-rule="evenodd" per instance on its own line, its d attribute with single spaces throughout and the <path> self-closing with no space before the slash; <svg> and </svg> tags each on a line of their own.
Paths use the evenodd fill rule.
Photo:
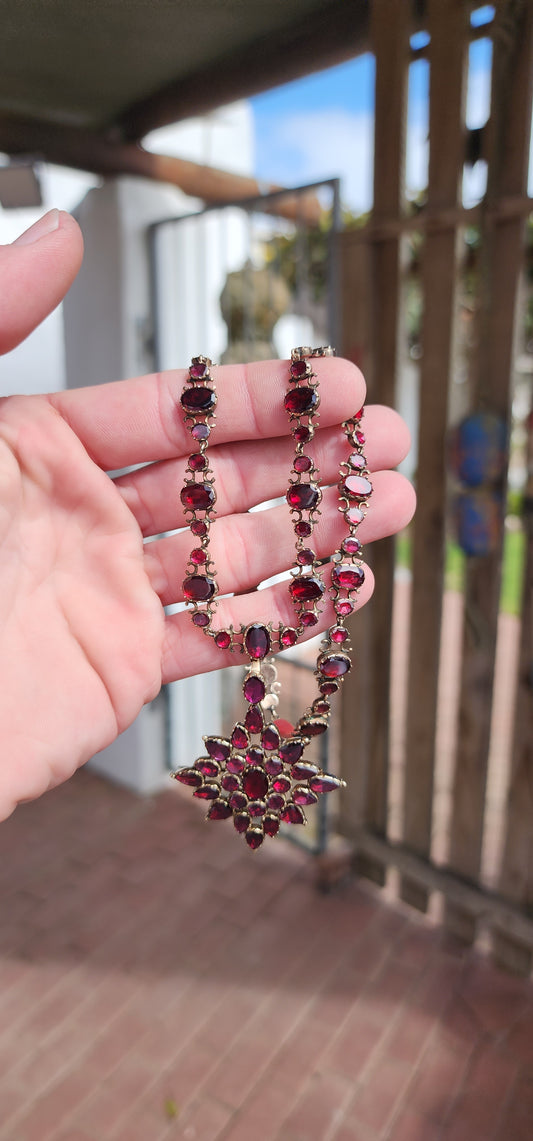
<svg viewBox="0 0 533 1141">
<path fill-rule="evenodd" d="M 0 354 L 59 305 L 82 256 L 80 227 L 63 210 L 50 210 L 11 245 L 0 245 Z"/>
</svg>

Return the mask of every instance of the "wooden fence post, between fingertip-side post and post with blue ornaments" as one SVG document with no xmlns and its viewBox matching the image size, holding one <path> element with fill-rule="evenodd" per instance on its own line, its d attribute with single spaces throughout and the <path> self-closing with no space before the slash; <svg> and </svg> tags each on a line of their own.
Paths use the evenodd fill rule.
<svg viewBox="0 0 533 1141">
<path fill-rule="evenodd" d="M 447 400 L 458 260 L 454 212 L 461 186 L 468 10 L 463 0 L 429 0 L 429 181 L 422 264 L 418 507 L 409 664 L 404 843 L 429 857 L 444 589 Z M 450 222 L 431 226 L 431 213 Z M 401 895 L 426 911 L 427 888 L 403 876 Z"/>
</svg>

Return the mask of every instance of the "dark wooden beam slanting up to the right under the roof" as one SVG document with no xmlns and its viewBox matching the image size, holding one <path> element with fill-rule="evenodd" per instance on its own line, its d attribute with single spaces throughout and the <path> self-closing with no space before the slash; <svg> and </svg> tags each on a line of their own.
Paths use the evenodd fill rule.
<svg viewBox="0 0 533 1141">
<path fill-rule="evenodd" d="M 127 108 L 120 127 L 126 138 L 139 139 L 154 128 L 331 67 L 366 50 L 368 30 L 366 0 L 329 0 L 275 35 L 268 33 L 140 99 Z"/>
</svg>

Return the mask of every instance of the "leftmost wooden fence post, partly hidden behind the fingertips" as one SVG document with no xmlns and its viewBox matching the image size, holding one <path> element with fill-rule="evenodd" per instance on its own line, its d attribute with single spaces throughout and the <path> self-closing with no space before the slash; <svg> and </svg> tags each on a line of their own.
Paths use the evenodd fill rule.
<svg viewBox="0 0 533 1141">
<path fill-rule="evenodd" d="M 373 219 L 377 224 L 391 221 L 397 225 L 403 211 L 410 7 L 404 0 L 373 0 L 371 9 L 371 41 L 375 55 Z M 399 246 L 397 226 L 391 235 L 381 234 L 371 248 L 372 365 L 369 398 L 393 405 L 398 355 Z M 381 541 L 372 552 L 372 569 L 375 576 L 375 602 L 366 608 L 365 629 L 362 626 L 358 636 L 363 646 L 371 646 L 371 654 L 366 655 L 360 667 L 369 673 L 364 817 L 371 831 L 385 836 L 394 581 L 391 540 Z M 342 726 L 345 756 L 349 756 L 354 747 L 354 695 L 348 689 Z M 377 883 L 385 882 L 386 866 L 381 860 L 365 857 L 360 871 Z"/>
</svg>

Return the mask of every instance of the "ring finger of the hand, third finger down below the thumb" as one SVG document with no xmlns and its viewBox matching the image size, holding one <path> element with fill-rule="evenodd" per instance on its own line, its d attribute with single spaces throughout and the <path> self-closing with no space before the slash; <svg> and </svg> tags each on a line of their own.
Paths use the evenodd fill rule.
<svg viewBox="0 0 533 1141">
<path fill-rule="evenodd" d="M 372 480 L 369 511 L 357 531 L 363 543 L 383 539 L 406 526 L 414 510 L 414 492 L 404 476 L 397 471 L 378 471 Z M 328 558 L 346 534 L 336 488 L 324 492 L 320 510 L 308 545 L 318 558 Z M 183 599 L 181 583 L 193 545 L 188 531 L 145 545 L 146 570 L 164 606 Z M 288 505 L 220 519 L 211 531 L 211 558 L 221 594 L 252 590 L 259 582 L 293 566 L 294 536 Z"/>
</svg>

